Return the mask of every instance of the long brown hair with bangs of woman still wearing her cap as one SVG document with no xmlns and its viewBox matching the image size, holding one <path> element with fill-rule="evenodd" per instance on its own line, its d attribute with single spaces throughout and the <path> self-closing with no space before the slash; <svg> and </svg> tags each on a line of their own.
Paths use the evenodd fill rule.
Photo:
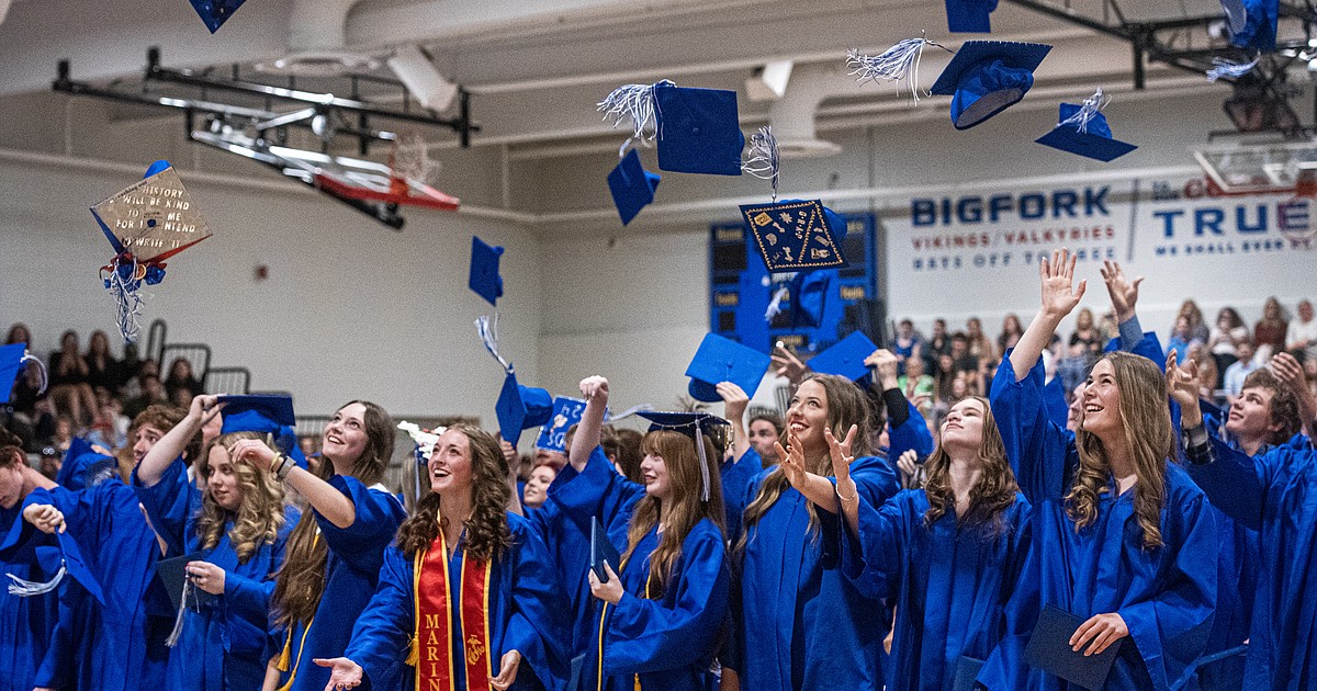
<svg viewBox="0 0 1317 691">
<path fill-rule="evenodd" d="M 647 455 L 662 458 L 668 469 L 668 486 L 672 496 L 668 499 L 668 517 L 664 521 L 662 533 L 658 536 L 658 546 L 649 554 L 649 579 L 653 584 L 647 588 L 651 599 L 662 598 L 668 582 L 672 579 L 677 559 L 681 558 L 681 544 L 703 519 L 709 519 L 718 525 L 720 532 L 726 532 L 723 525 L 726 509 L 723 509 L 723 486 L 718 475 L 718 450 L 709 434 L 705 434 L 705 458 L 709 462 L 709 501 L 701 501 L 701 487 L 703 479 L 699 470 L 699 454 L 695 450 L 695 440 L 666 429 L 658 429 L 645 434 L 641 448 Z M 631 559 L 636 545 L 655 525 L 658 525 L 661 515 L 661 501 L 656 496 L 645 495 L 631 515 L 631 525 L 627 529 L 627 551 L 622 561 Z"/>
</svg>

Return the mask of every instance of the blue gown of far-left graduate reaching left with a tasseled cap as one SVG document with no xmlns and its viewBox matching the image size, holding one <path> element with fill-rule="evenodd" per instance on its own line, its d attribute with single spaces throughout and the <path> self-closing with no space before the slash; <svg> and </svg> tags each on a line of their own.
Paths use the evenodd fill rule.
<svg viewBox="0 0 1317 691">
<path fill-rule="evenodd" d="M 24 501 L 63 512 L 105 595 L 104 605 L 83 596 L 61 616 L 63 640 L 71 645 L 67 659 L 76 666 L 70 684 L 76 688 L 155 691 L 165 684 L 173 608 L 155 582 L 159 545 L 137 503 L 137 494 L 117 478 L 78 492 L 37 488 Z"/>
</svg>

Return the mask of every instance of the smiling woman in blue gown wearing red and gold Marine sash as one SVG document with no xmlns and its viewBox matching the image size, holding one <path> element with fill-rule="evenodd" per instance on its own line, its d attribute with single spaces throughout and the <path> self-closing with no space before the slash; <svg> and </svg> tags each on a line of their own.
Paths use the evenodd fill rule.
<svg viewBox="0 0 1317 691">
<path fill-rule="evenodd" d="M 402 678 L 400 688 L 561 690 L 569 616 L 548 548 L 507 512 L 498 441 L 448 428 L 429 457 L 431 492 L 385 553 L 379 588 L 325 688 Z M 399 674 L 400 669 L 400 674 Z M 399 687 L 391 687 L 399 688 Z"/>
</svg>

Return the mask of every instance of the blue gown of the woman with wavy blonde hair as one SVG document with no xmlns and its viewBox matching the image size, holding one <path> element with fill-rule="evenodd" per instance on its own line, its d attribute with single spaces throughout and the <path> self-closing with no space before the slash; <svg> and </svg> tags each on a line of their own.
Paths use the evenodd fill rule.
<svg viewBox="0 0 1317 691">
<path fill-rule="evenodd" d="M 187 479 L 182 462 L 174 462 L 153 487 L 145 487 L 133 473 L 133 488 L 151 519 L 151 525 L 170 545 L 180 545 L 178 555 L 202 550 L 196 519 L 202 491 Z M 273 627 L 270 596 L 274 575 L 283 563 L 283 548 L 300 512 L 284 509 L 284 524 L 274 542 L 261 544 L 240 563 L 225 526 L 220 542 L 198 561 L 224 569 L 224 595 L 198 591 L 198 605 L 183 613 L 183 630 L 170 649 L 166 678 L 169 688 L 204 691 L 245 691 L 265 680 L 266 637 Z M 173 549 L 171 549 L 173 551 Z"/>
</svg>

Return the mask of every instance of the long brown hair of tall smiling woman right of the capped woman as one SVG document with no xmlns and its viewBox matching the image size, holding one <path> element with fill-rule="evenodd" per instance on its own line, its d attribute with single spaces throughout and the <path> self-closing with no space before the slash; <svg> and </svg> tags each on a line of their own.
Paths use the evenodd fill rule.
<svg viewBox="0 0 1317 691">
<path fill-rule="evenodd" d="M 851 425 L 857 429 L 855 432 L 855 440 L 851 442 L 851 455 L 861 457 L 869 454 L 869 428 L 872 426 L 873 409 L 869 404 L 868 396 L 860 390 L 855 382 L 832 374 L 810 374 L 801 380 L 817 382 L 823 387 L 823 394 L 827 396 L 827 425 L 832 429 L 834 434 L 846 436 Z M 806 470 L 814 473 L 815 475 L 823 475 L 826 478 L 832 476 L 832 457 L 828 453 L 823 453 L 817 458 L 806 458 Z M 749 536 L 749 529 L 759 524 L 765 513 L 777 500 L 782 496 L 792 484 L 786 480 L 786 474 L 782 473 L 781 466 L 773 469 L 764 482 L 759 487 L 759 494 L 755 495 L 755 500 L 745 507 L 745 520 L 741 528 L 740 540 L 736 542 L 736 549 L 741 550 L 745 548 L 747 536 Z M 806 509 L 810 513 L 810 533 L 817 536 L 819 530 L 818 513 L 814 509 L 814 503 L 807 501 Z"/>
</svg>

